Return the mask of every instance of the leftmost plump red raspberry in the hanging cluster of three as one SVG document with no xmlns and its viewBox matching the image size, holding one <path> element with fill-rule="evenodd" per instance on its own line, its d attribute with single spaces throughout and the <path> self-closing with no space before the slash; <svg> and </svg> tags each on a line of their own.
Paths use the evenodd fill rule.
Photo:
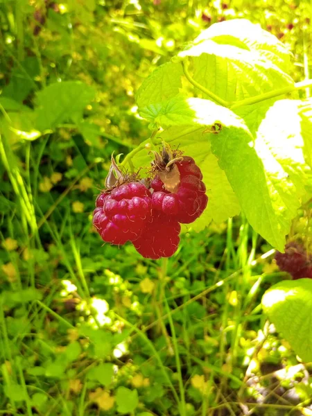
<svg viewBox="0 0 312 416">
<path fill-rule="evenodd" d="M 93 223 L 104 241 L 121 245 L 135 241 L 151 215 L 150 191 L 140 182 L 128 182 L 98 196 Z"/>
</svg>

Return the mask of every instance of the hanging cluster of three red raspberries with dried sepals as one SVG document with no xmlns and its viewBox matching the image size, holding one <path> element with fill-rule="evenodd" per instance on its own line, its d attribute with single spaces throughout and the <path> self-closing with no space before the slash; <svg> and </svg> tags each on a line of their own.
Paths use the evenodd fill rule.
<svg viewBox="0 0 312 416">
<path fill-rule="evenodd" d="M 164 148 L 155 153 L 153 180 L 121 173 L 112 158 L 105 191 L 96 198 L 93 224 L 103 241 L 130 241 L 148 259 L 171 257 L 180 243 L 180 223 L 193 223 L 207 206 L 202 173 L 194 159 Z"/>
</svg>

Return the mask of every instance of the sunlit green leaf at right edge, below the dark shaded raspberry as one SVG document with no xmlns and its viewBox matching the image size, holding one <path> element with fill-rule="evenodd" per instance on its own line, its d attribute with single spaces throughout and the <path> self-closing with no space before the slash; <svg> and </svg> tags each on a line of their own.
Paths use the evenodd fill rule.
<svg viewBox="0 0 312 416">
<path fill-rule="evenodd" d="M 280 281 L 263 295 L 262 306 L 295 353 L 312 361 L 312 280 Z"/>
</svg>

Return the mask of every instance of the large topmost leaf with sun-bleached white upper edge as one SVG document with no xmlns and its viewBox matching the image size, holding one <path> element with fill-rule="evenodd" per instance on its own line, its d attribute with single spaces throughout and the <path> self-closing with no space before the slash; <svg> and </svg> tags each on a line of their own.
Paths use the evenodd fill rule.
<svg viewBox="0 0 312 416">
<path fill-rule="evenodd" d="M 280 42 L 275 38 L 275 44 L 269 44 L 267 37 L 272 39 L 272 35 L 261 37 L 259 31 L 265 32 L 250 23 L 246 23 L 249 31 L 242 35 L 240 24 L 246 21 L 237 19 L 236 24 L 233 22 L 224 22 L 220 25 L 221 30 L 219 24 L 211 26 L 180 52 L 176 60 L 191 58 L 193 79 L 226 101 L 243 100 L 293 85 L 291 76 L 284 72 L 287 51 Z M 227 24 L 230 34 L 226 31 Z M 223 43 L 225 41 L 230 43 Z"/>
</svg>

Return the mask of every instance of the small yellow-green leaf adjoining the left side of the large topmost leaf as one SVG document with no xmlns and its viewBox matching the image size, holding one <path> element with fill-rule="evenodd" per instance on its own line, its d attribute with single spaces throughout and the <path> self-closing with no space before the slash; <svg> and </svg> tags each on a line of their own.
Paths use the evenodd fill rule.
<svg viewBox="0 0 312 416">
<path fill-rule="evenodd" d="M 182 87 L 182 73 L 180 63 L 166 62 L 160 65 L 139 87 L 136 96 L 138 107 L 159 103 L 178 94 Z"/>
</svg>

